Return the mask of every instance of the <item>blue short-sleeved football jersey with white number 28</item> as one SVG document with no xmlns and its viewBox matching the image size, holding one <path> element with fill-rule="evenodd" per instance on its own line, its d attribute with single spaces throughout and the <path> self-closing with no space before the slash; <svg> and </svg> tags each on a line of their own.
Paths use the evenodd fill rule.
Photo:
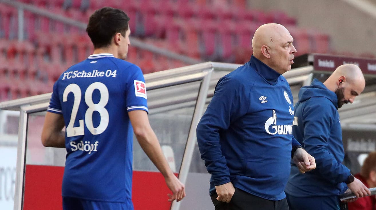
<svg viewBox="0 0 376 210">
<path fill-rule="evenodd" d="M 109 202 L 131 198 L 132 110 L 148 112 L 138 66 L 112 54 L 94 54 L 62 73 L 47 111 L 62 114 L 65 121 L 63 196 Z"/>
</svg>

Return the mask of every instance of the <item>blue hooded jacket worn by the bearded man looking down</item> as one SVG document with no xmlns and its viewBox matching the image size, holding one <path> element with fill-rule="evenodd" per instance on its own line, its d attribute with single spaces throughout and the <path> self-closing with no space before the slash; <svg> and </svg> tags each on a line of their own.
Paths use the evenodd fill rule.
<svg viewBox="0 0 376 210">
<path fill-rule="evenodd" d="M 299 173 L 291 163 L 285 191 L 295 197 L 331 196 L 344 193 L 350 170 L 342 164 L 344 150 L 337 95 L 314 79 L 299 91 L 295 105 L 295 138 L 316 160 L 316 169 Z"/>
</svg>

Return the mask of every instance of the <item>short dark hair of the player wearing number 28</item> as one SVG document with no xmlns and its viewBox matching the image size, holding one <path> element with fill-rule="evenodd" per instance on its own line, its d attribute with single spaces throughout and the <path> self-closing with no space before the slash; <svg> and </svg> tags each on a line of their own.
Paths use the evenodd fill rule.
<svg viewBox="0 0 376 210">
<path fill-rule="evenodd" d="M 116 33 L 121 33 L 125 37 L 128 22 L 128 15 L 120 9 L 103 7 L 90 16 L 86 32 L 95 49 L 103 48 L 111 44 L 111 39 Z"/>
</svg>

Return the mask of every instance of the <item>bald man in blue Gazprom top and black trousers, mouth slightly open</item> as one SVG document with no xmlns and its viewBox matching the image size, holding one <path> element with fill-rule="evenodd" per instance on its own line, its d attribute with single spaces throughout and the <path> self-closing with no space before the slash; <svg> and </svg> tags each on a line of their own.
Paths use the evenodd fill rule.
<svg viewBox="0 0 376 210">
<path fill-rule="evenodd" d="M 250 61 L 222 77 L 197 126 L 216 210 L 288 210 L 284 193 L 293 156 L 300 171 L 315 160 L 291 133 L 294 104 L 281 75 L 296 49 L 280 24 L 264 24 Z"/>
</svg>

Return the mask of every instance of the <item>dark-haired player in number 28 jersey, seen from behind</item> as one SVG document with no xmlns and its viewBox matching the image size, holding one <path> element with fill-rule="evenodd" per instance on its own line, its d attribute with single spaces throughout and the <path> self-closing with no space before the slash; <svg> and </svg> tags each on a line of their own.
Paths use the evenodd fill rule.
<svg viewBox="0 0 376 210">
<path fill-rule="evenodd" d="M 185 197 L 150 127 L 141 69 L 124 61 L 128 22 L 119 9 L 96 10 L 86 28 L 93 55 L 71 66 L 53 86 L 41 139 L 44 146 L 67 149 L 64 210 L 133 209 L 133 133 L 173 192 L 168 200 Z"/>
</svg>

